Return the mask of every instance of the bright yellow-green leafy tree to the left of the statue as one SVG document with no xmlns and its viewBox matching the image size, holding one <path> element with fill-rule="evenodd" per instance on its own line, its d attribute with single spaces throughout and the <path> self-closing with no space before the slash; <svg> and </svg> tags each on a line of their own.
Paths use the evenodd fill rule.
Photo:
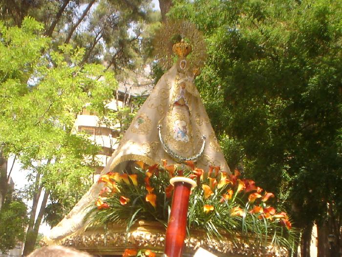
<svg viewBox="0 0 342 257">
<path fill-rule="evenodd" d="M 24 255 L 34 248 L 48 198 L 70 207 L 90 186 L 94 163 L 85 157 L 95 155 L 98 148 L 72 133 L 73 123 L 86 103 L 104 115 L 117 85 L 102 65 L 80 66 L 83 49 L 64 45 L 51 50 L 42 28 L 31 18 L 25 18 L 21 28 L 0 23 L 1 152 L 16 154 L 32 182 Z M 96 79 L 102 76 L 106 79 Z"/>
</svg>

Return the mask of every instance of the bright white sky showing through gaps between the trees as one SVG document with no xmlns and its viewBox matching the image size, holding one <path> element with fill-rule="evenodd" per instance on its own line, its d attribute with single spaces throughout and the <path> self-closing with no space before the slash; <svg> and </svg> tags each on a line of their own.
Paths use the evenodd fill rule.
<svg viewBox="0 0 342 257">
<path fill-rule="evenodd" d="M 153 5 L 153 10 L 159 10 L 159 1 L 158 0 L 152 0 L 152 5 Z M 13 164 L 13 157 L 10 157 L 8 159 L 7 172 L 9 172 L 9 170 L 11 169 L 12 164 Z M 28 172 L 26 170 L 21 170 L 21 164 L 19 162 L 15 162 L 15 164 L 13 166 L 12 173 L 11 173 L 11 178 L 15 184 L 15 186 L 14 186 L 15 189 L 21 190 L 28 185 L 28 180 L 26 178 L 27 174 L 28 174 Z M 44 194 L 44 192 L 42 192 L 42 197 L 41 197 L 40 202 L 38 204 L 38 210 L 40 210 L 43 194 Z M 25 201 L 25 203 L 27 204 L 28 208 L 30 208 L 32 206 L 31 200 Z M 38 212 L 39 211 L 37 211 L 36 216 L 38 216 Z M 50 226 L 48 226 L 45 223 L 42 223 L 40 228 L 39 228 L 39 233 L 42 233 L 45 236 L 49 236 Z"/>
</svg>

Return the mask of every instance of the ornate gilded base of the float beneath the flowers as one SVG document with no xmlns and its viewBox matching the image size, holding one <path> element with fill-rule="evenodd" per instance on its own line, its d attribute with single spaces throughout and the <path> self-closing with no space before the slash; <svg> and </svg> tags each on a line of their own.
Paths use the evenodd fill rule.
<svg viewBox="0 0 342 257">
<path fill-rule="evenodd" d="M 126 226 L 109 224 L 107 229 L 88 229 L 82 234 L 72 234 L 59 241 L 42 240 L 41 245 L 63 245 L 86 251 L 93 255 L 122 256 L 127 248 L 150 249 L 161 256 L 164 250 L 166 229 L 158 222 L 138 221 L 126 234 Z M 253 241 L 236 236 L 235 241 L 228 235 L 222 240 L 208 239 L 199 231 L 192 231 L 185 239 L 184 257 L 194 255 L 199 247 L 218 257 L 285 257 L 286 249 L 275 247 L 255 247 Z"/>
</svg>

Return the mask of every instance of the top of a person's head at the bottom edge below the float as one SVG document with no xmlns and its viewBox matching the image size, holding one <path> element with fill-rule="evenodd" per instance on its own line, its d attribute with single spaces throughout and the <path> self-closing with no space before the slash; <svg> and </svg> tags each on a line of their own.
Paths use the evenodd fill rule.
<svg viewBox="0 0 342 257">
<path fill-rule="evenodd" d="M 29 254 L 27 257 L 92 257 L 88 253 L 60 245 L 44 246 Z"/>
</svg>

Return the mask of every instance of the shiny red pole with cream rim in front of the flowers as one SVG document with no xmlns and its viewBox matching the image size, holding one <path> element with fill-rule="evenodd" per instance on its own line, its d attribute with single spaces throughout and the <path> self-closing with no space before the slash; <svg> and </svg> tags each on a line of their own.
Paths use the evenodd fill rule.
<svg viewBox="0 0 342 257">
<path fill-rule="evenodd" d="M 174 190 L 164 253 L 167 257 L 181 257 L 186 237 L 190 192 L 196 183 L 184 177 L 172 178 L 170 183 L 174 186 Z"/>
</svg>

